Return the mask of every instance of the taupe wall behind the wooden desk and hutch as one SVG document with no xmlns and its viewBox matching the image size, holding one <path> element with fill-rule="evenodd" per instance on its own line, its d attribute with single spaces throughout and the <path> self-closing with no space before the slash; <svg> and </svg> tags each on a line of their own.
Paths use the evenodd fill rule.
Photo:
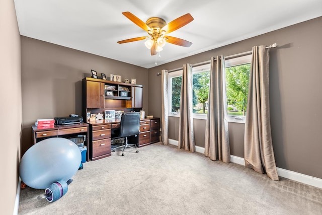
<svg viewBox="0 0 322 215">
<path fill-rule="evenodd" d="M 82 115 L 82 79 L 92 75 L 91 69 L 99 76 L 120 75 L 122 82 L 135 78 L 143 85 L 143 109 L 148 109 L 146 68 L 24 36 L 21 56 L 22 154 L 31 147 L 31 125 L 37 119 Z"/>
</svg>

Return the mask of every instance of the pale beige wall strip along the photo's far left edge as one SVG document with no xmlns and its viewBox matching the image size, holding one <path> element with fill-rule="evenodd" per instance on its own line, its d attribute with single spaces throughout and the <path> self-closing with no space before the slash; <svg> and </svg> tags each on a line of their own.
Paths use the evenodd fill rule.
<svg viewBox="0 0 322 215">
<path fill-rule="evenodd" d="M 20 35 L 14 1 L 0 1 L 0 208 L 13 214 L 22 125 Z"/>
</svg>

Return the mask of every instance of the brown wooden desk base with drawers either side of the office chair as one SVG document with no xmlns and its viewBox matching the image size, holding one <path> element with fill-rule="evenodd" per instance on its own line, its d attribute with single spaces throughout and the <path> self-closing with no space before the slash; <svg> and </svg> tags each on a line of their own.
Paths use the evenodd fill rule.
<svg viewBox="0 0 322 215">
<path fill-rule="evenodd" d="M 103 119 L 89 121 L 89 159 L 92 161 L 111 156 L 111 138 L 113 129 L 120 127 L 121 119 Z M 140 133 L 129 142 L 144 147 L 159 141 L 160 118 L 141 118 Z"/>
</svg>

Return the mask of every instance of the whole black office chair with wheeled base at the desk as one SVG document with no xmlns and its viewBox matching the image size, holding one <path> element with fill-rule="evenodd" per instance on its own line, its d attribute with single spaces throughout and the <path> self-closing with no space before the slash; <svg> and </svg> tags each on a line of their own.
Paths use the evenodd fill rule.
<svg viewBox="0 0 322 215">
<path fill-rule="evenodd" d="M 117 138 L 125 137 L 125 143 L 123 141 L 122 146 L 116 147 L 113 149 L 113 152 L 115 152 L 116 149 L 124 147 L 122 151 L 122 156 L 124 156 L 124 150 L 125 148 L 133 148 L 136 149 L 136 144 L 128 144 L 127 137 L 128 136 L 137 136 L 140 132 L 140 113 L 138 112 L 132 112 L 132 113 L 123 113 L 121 117 L 121 123 L 120 123 L 120 131 Z M 135 147 L 134 147 L 135 146 Z M 139 151 L 136 149 L 136 152 Z"/>
</svg>

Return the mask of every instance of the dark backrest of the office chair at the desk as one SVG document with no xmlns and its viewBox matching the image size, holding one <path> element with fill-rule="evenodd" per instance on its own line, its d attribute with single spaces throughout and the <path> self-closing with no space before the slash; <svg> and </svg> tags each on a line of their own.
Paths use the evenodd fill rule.
<svg viewBox="0 0 322 215">
<path fill-rule="evenodd" d="M 120 135 L 132 136 L 140 132 L 140 113 L 123 113 L 121 117 Z"/>
</svg>

